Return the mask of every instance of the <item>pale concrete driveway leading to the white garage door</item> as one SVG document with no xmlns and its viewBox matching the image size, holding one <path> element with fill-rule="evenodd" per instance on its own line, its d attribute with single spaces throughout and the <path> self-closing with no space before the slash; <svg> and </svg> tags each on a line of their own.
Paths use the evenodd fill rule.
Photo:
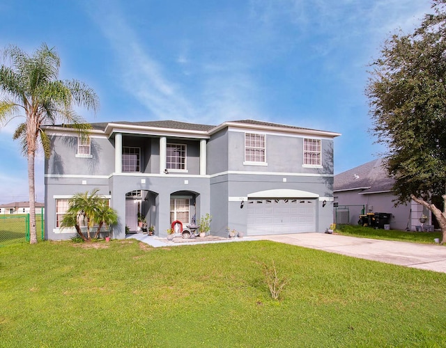
<svg viewBox="0 0 446 348">
<path fill-rule="evenodd" d="M 256 239 L 446 273 L 446 247 L 439 244 L 392 242 L 325 233 L 266 235 L 256 237 Z"/>
</svg>

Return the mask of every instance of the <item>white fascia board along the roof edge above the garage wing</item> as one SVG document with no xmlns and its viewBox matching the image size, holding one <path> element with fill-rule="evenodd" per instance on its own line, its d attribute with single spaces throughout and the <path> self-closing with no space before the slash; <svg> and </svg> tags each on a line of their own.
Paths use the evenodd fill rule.
<svg viewBox="0 0 446 348">
<path fill-rule="evenodd" d="M 319 136 L 319 137 L 327 137 L 327 138 L 335 138 L 336 136 L 340 136 L 341 133 L 336 132 L 327 132 L 327 131 L 321 131 L 316 129 L 305 129 L 305 128 L 288 128 L 288 127 L 281 127 L 281 125 L 277 125 L 277 127 L 271 127 L 268 125 L 254 125 L 252 123 L 239 123 L 239 122 L 223 122 L 221 125 L 218 125 L 217 127 L 214 127 L 210 129 L 209 134 L 215 134 L 216 132 L 219 132 L 220 130 L 224 128 L 231 129 L 243 129 L 243 132 L 246 131 L 246 129 L 253 130 L 256 129 L 259 132 L 280 132 L 280 133 L 286 133 L 286 134 L 300 134 L 302 136 Z"/>
</svg>

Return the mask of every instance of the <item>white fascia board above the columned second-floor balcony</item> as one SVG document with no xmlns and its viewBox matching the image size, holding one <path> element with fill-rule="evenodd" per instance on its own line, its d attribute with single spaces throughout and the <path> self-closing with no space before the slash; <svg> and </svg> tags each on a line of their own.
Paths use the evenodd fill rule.
<svg viewBox="0 0 446 348">
<path fill-rule="evenodd" d="M 162 128 L 162 127 L 146 127 L 138 125 L 121 125 L 119 123 L 109 123 L 107 127 L 105 127 L 105 134 L 107 134 L 110 137 L 112 136 L 113 133 L 139 134 L 139 135 L 151 135 L 151 136 L 178 136 L 180 138 L 210 139 L 210 135 L 206 131 Z"/>
</svg>

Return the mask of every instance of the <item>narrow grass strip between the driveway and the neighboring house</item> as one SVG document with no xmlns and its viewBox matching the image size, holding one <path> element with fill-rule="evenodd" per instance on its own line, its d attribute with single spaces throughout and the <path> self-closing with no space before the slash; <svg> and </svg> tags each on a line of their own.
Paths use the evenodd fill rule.
<svg viewBox="0 0 446 348">
<path fill-rule="evenodd" d="M 348 235 L 353 237 L 363 237 L 372 239 L 387 239 L 399 242 L 415 242 L 435 244 L 434 238 L 441 241 L 441 232 L 413 232 L 401 230 L 383 230 L 370 227 L 337 225 L 336 232 L 339 235 Z"/>
</svg>

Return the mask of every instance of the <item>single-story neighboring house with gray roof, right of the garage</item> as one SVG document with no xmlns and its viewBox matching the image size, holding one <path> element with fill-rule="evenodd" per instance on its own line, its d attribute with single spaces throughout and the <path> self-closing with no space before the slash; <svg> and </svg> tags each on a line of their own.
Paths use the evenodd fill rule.
<svg viewBox="0 0 446 348">
<path fill-rule="evenodd" d="M 415 226 L 422 226 L 420 217 L 425 214 L 428 220 L 423 226 L 431 225 L 431 214 L 422 205 L 411 201 L 408 205 L 394 207 L 394 180 L 382 164 L 382 159 L 375 159 L 334 175 L 334 221 L 356 225 L 360 214 L 388 213 L 391 214 L 391 229 L 416 230 Z"/>
</svg>

